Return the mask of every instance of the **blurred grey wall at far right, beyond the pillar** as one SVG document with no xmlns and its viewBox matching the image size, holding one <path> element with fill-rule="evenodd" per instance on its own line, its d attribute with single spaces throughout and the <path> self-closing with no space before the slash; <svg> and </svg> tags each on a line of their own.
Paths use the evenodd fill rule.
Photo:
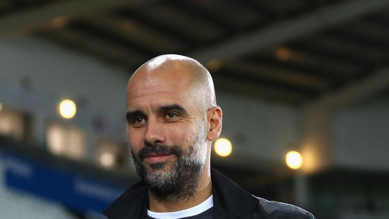
<svg viewBox="0 0 389 219">
<path fill-rule="evenodd" d="M 389 170 L 389 100 L 339 111 L 333 143 L 336 165 Z"/>
</svg>

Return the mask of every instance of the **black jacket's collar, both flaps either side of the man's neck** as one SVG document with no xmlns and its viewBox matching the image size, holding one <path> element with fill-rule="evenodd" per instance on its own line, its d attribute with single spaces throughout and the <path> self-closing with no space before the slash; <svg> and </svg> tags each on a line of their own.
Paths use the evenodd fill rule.
<svg viewBox="0 0 389 219">
<path fill-rule="evenodd" d="M 217 215 L 236 218 L 258 205 L 258 199 L 211 168 L 213 209 Z M 130 187 L 103 213 L 112 219 L 146 218 L 148 195 L 142 181 Z"/>
</svg>

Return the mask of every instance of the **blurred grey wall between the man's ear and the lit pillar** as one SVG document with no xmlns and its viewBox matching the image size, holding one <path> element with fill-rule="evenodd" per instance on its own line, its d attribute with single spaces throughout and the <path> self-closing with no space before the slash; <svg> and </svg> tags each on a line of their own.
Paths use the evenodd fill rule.
<svg viewBox="0 0 389 219">
<path fill-rule="evenodd" d="M 245 157 L 247 160 L 240 162 L 253 159 L 271 161 L 268 165 L 282 164 L 287 150 L 298 143 L 300 114 L 297 109 L 239 95 L 216 94 L 223 112 L 221 136 L 231 139 L 233 153 L 243 155 L 237 159 Z"/>
</svg>

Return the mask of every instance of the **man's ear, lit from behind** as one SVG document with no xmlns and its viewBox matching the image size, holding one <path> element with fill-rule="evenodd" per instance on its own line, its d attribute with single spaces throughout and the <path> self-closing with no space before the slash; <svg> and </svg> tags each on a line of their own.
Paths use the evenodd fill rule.
<svg viewBox="0 0 389 219">
<path fill-rule="evenodd" d="M 221 132 L 223 114 L 219 106 L 214 106 L 207 113 L 207 139 L 213 141 L 219 137 Z"/>
</svg>

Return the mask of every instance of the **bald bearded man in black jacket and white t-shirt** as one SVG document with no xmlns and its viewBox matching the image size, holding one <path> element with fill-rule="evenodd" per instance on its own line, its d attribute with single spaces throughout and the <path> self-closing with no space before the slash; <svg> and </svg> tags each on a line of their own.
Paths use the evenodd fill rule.
<svg viewBox="0 0 389 219">
<path fill-rule="evenodd" d="M 128 83 L 127 122 L 142 180 L 104 211 L 109 218 L 315 218 L 256 198 L 211 169 L 222 112 L 211 75 L 196 60 L 162 55 L 140 66 Z"/>
</svg>

